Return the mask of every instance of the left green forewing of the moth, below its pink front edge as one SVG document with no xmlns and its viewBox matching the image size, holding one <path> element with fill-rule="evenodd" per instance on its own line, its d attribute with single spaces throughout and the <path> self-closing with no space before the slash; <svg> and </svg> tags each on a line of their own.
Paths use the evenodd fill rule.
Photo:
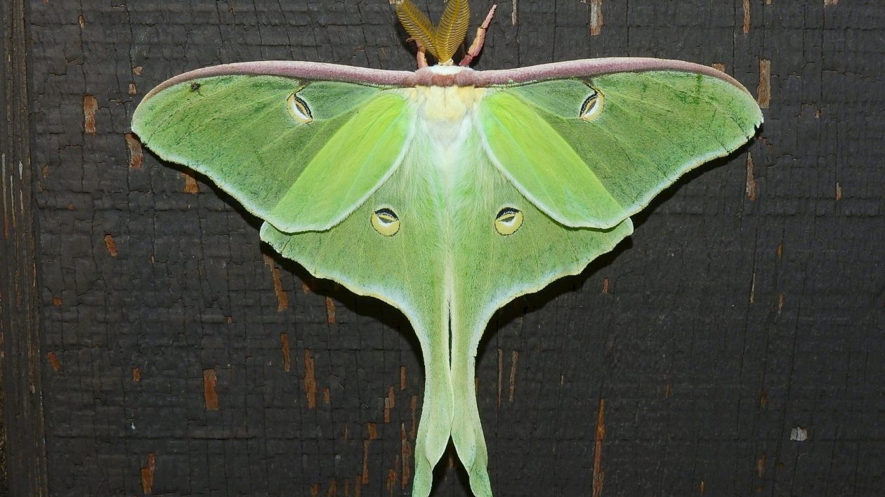
<svg viewBox="0 0 885 497">
<path fill-rule="evenodd" d="M 402 161 L 412 119 L 381 88 L 227 74 L 150 95 L 132 127 L 158 156 L 291 232 L 335 226 L 364 202 Z"/>
</svg>

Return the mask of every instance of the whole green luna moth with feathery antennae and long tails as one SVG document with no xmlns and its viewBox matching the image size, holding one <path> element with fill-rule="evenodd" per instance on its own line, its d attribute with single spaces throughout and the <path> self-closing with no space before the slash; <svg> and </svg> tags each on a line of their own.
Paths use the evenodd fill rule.
<svg viewBox="0 0 885 497">
<path fill-rule="evenodd" d="M 132 122 L 159 157 L 261 218 L 282 256 L 408 318 L 426 378 L 412 495 L 430 493 L 450 439 L 473 493 L 492 493 L 473 383 L 492 314 L 581 272 L 654 195 L 762 122 L 739 82 L 689 62 L 474 71 L 493 12 L 460 65 L 466 0 L 449 0 L 437 26 L 402 0 L 415 72 L 205 67 L 153 88 Z"/>
</svg>

